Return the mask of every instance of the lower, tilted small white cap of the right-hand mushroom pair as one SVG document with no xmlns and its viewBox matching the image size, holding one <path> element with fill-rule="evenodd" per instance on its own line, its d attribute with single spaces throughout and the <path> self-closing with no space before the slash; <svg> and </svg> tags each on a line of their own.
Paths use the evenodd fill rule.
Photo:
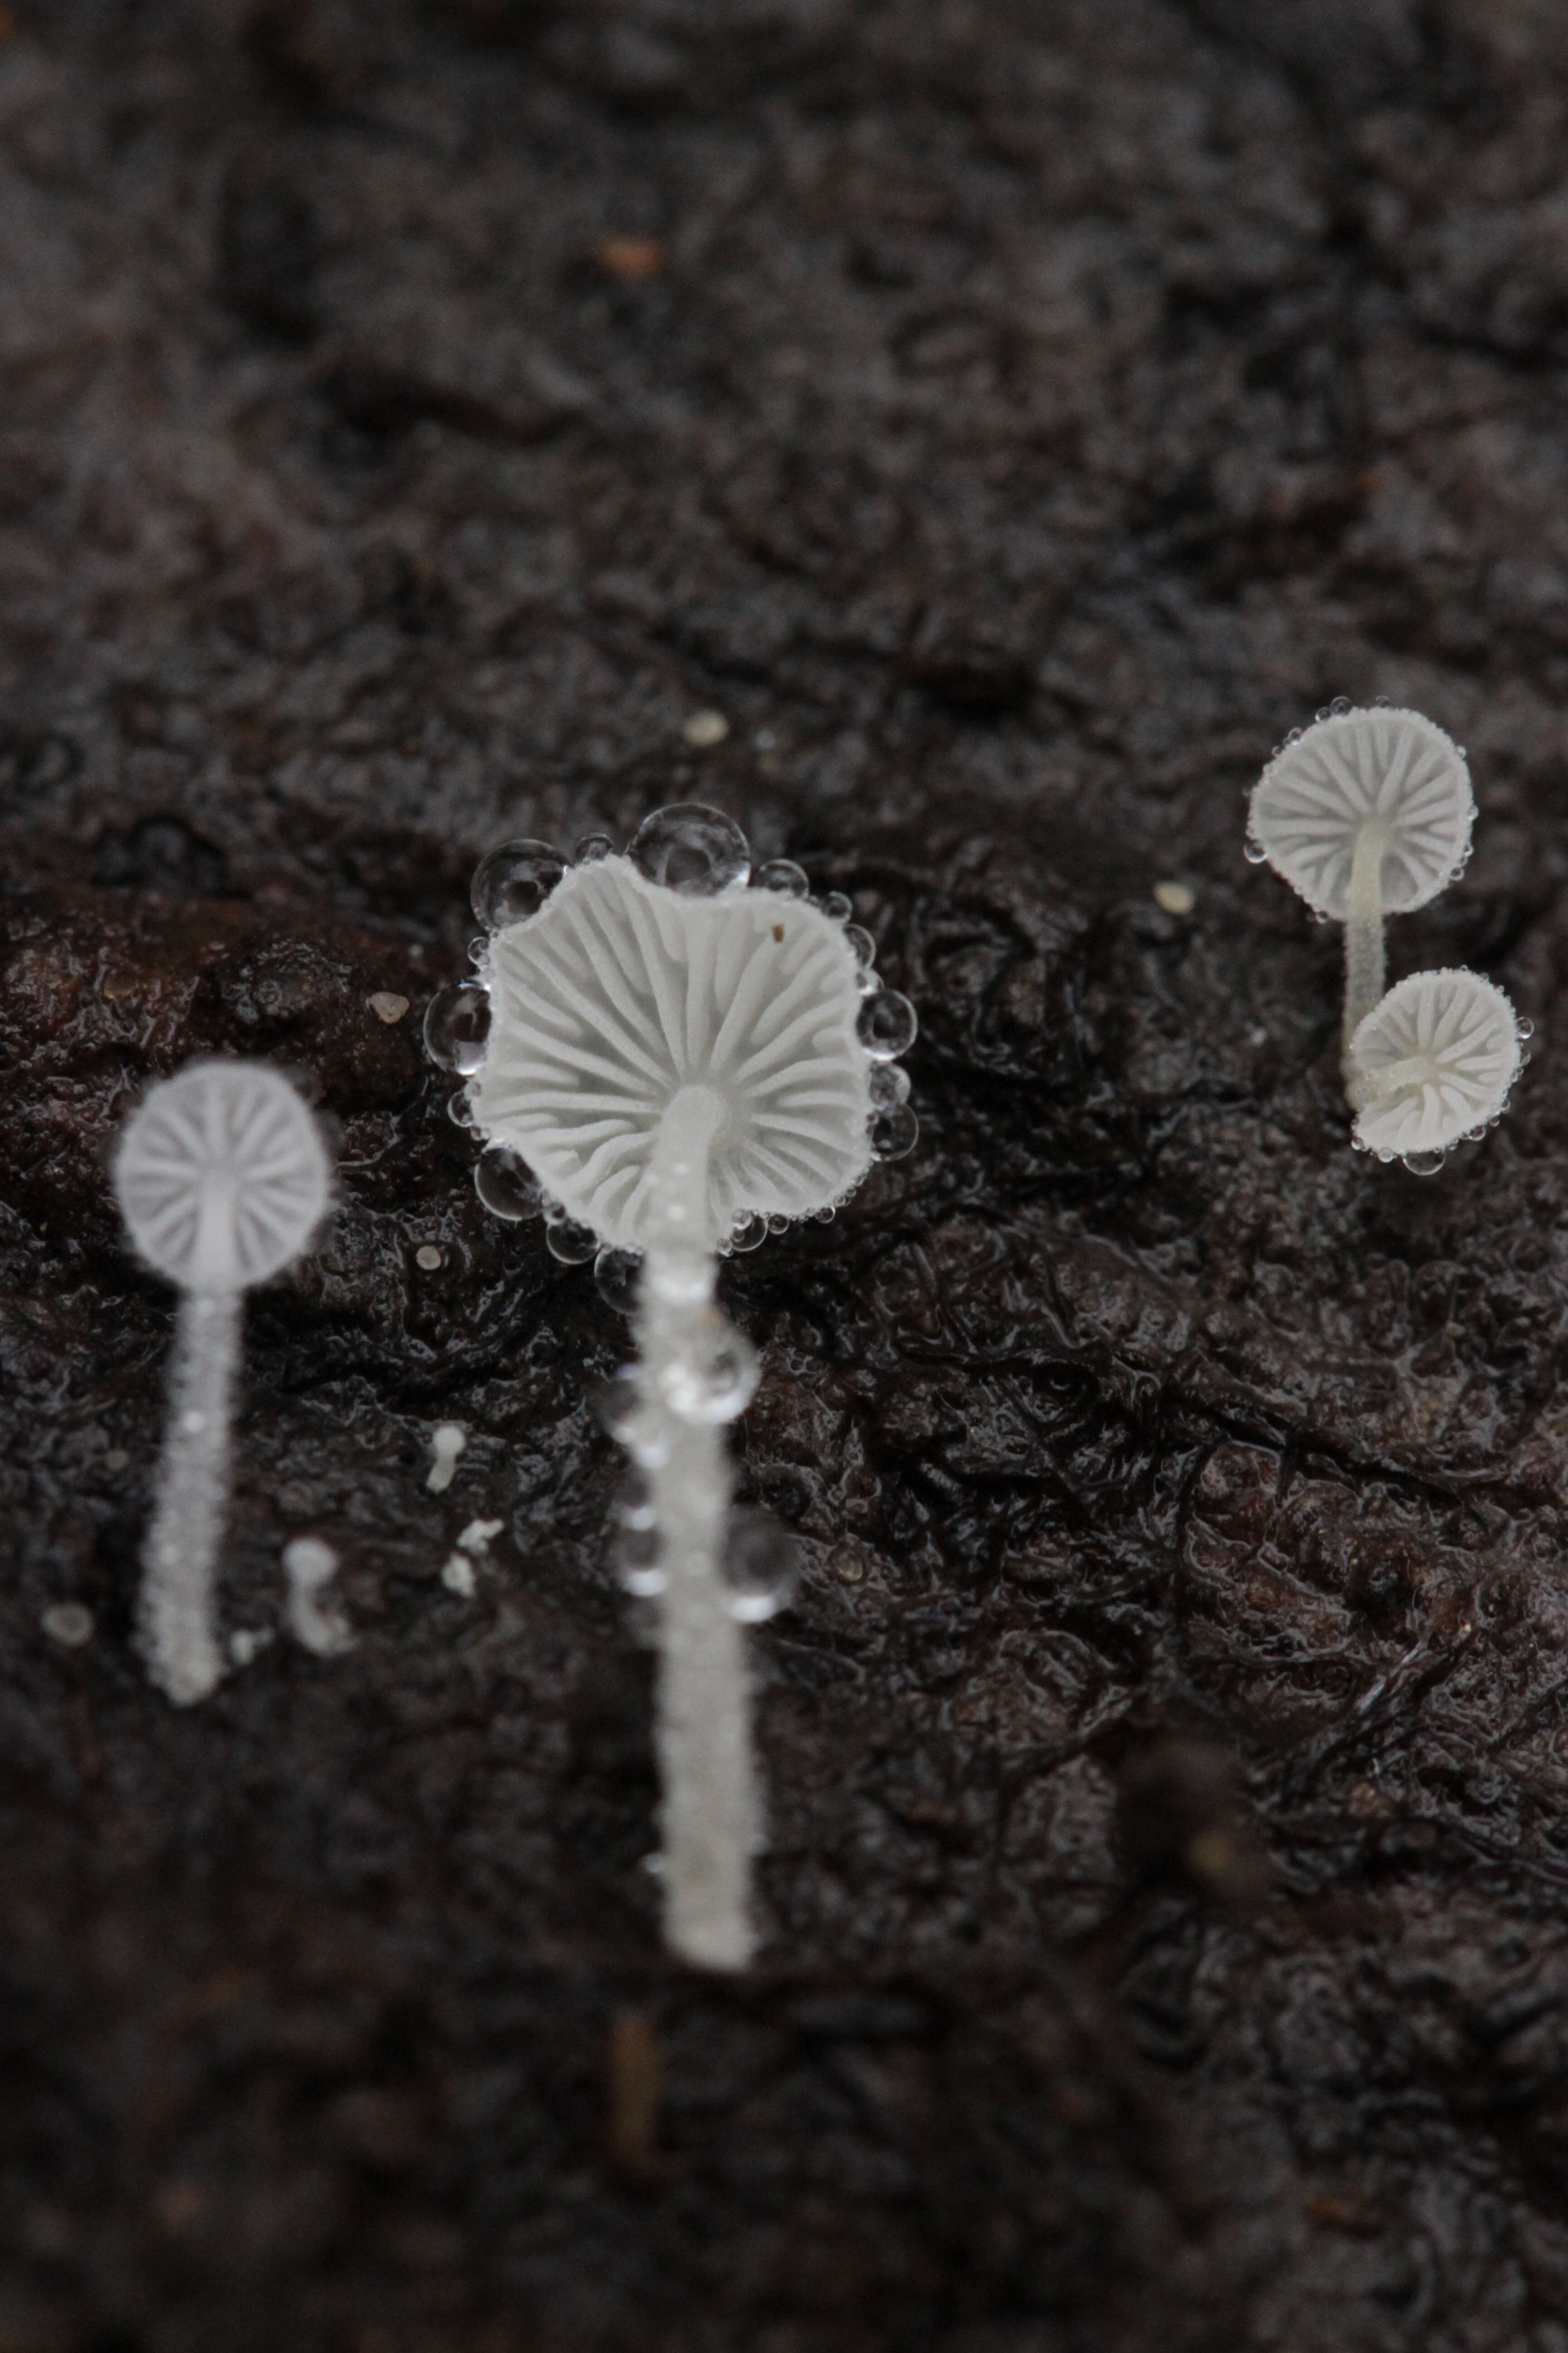
<svg viewBox="0 0 1568 2353">
<path fill-rule="evenodd" d="M 1519 1016 L 1493 981 L 1413 972 L 1349 1040 L 1356 1141 L 1441 1153 L 1502 1111 L 1519 1061 Z"/>
</svg>

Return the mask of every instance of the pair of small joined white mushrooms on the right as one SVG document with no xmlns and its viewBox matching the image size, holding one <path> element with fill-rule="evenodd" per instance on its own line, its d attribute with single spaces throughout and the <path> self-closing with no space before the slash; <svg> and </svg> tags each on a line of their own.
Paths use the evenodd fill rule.
<svg viewBox="0 0 1568 2353">
<path fill-rule="evenodd" d="M 1415 1176 L 1507 1106 L 1521 1024 L 1479 972 L 1413 972 L 1385 991 L 1385 915 L 1427 906 L 1469 859 L 1476 805 L 1460 746 L 1418 711 L 1335 706 L 1253 788 L 1248 859 L 1345 925 L 1342 1071 L 1354 1144 Z"/>
</svg>

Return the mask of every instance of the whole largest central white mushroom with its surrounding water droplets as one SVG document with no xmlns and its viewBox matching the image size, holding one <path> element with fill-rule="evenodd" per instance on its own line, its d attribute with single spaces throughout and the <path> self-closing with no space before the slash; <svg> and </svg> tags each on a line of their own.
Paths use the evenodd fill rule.
<svg viewBox="0 0 1568 2353">
<path fill-rule="evenodd" d="M 748 1525 L 736 1567 L 722 1431 L 757 1358 L 715 1304 L 717 1257 L 832 1217 L 912 1148 L 896 1059 L 914 1007 L 882 988 L 849 901 L 816 906 L 788 861 L 752 880 L 719 809 L 656 809 L 625 854 L 590 835 L 531 913 L 496 922 L 498 878 L 534 892 L 552 859 L 527 842 L 480 866 L 480 974 L 435 1000 L 425 1040 L 468 1078 L 480 1198 L 503 1219 L 543 1209 L 545 1247 L 595 1257 L 602 1297 L 635 1301 L 611 1428 L 644 1480 L 623 1581 L 658 1609 L 665 1939 L 738 1969 L 759 1842 L 741 1628 L 780 1605 L 788 1539 Z"/>
</svg>

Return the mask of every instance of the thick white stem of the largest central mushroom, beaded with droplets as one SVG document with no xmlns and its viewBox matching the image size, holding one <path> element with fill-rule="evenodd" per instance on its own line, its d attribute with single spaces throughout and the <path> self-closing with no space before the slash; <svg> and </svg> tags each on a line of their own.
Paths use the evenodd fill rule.
<svg viewBox="0 0 1568 2353">
<path fill-rule="evenodd" d="M 665 1588 L 658 1605 L 658 1765 L 665 1944 L 705 1969 L 752 1955 L 757 1842 L 745 1638 L 724 1593 L 729 1454 L 703 1417 L 703 1367 L 724 1344 L 712 1306 L 708 1158 L 724 1115 L 710 1087 L 668 1104 L 651 1158 L 649 1247 L 637 1306 L 642 1407 Z M 693 1407 L 682 1412 L 682 1402 Z"/>
</svg>

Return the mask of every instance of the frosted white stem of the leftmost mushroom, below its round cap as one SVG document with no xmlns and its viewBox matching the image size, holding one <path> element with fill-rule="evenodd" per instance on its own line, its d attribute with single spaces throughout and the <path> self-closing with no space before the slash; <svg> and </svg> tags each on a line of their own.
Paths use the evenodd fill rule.
<svg viewBox="0 0 1568 2353">
<path fill-rule="evenodd" d="M 169 1428 L 143 1551 L 141 1649 L 176 1708 L 223 1673 L 212 1572 L 228 1504 L 228 1421 L 240 1358 L 240 1292 L 181 1292 Z"/>
</svg>

